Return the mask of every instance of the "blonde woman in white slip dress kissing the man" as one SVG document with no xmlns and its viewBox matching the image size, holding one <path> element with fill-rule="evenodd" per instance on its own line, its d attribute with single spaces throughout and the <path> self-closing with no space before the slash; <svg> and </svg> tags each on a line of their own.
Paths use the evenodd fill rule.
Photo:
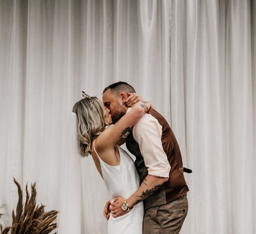
<svg viewBox="0 0 256 234">
<path fill-rule="evenodd" d="M 75 103 L 73 112 L 78 119 L 78 138 L 82 156 L 92 155 L 96 168 L 111 194 L 124 198 L 133 194 L 140 185 L 133 160 L 117 143 L 129 134 L 131 127 L 149 110 L 150 102 L 138 101 L 112 127 L 109 109 L 97 97 L 83 94 L 83 99 Z M 141 234 L 143 227 L 143 203 L 127 209 L 127 214 L 113 218 L 110 214 L 107 232 Z"/>
</svg>

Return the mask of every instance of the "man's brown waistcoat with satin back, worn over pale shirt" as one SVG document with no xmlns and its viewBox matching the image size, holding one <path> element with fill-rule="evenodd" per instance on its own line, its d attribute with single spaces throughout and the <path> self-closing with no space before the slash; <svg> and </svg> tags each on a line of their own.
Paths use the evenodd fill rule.
<svg viewBox="0 0 256 234">
<path fill-rule="evenodd" d="M 169 180 L 160 186 L 155 193 L 144 200 L 145 210 L 174 201 L 189 191 L 183 175 L 182 157 L 179 145 L 172 129 L 164 117 L 157 111 L 150 109 L 148 113 L 155 117 L 162 126 L 162 145 L 171 165 L 171 170 L 169 172 Z M 132 133 L 126 138 L 126 147 L 136 156 L 135 166 L 140 176 L 140 182 L 142 183 L 147 176 L 147 167 L 140 153 L 139 145 L 134 140 Z M 147 155 L 144 155 L 144 157 L 146 156 Z"/>
</svg>

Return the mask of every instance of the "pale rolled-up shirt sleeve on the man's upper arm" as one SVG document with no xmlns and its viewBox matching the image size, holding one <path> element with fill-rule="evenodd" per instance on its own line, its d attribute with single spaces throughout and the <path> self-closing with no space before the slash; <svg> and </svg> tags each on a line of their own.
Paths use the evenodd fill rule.
<svg viewBox="0 0 256 234">
<path fill-rule="evenodd" d="M 171 169 L 162 145 L 162 126 L 156 118 L 145 114 L 133 126 L 134 140 L 139 144 L 148 174 L 167 178 Z"/>
</svg>

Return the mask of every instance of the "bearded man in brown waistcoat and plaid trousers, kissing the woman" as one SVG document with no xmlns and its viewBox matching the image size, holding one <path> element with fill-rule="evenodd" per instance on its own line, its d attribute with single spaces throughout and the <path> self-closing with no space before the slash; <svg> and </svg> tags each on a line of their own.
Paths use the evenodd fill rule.
<svg viewBox="0 0 256 234">
<path fill-rule="evenodd" d="M 130 109 L 125 106 L 127 93 L 135 93 L 126 82 L 113 83 L 103 91 L 103 103 L 110 109 L 113 124 Z M 134 103 L 136 101 L 133 101 Z M 144 200 L 143 233 L 179 233 L 188 213 L 189 191 L 183 172 L 178 142 L 167 121 L 150 109 L 130 129 L 127 149 L 136 156 L 135 165 L 141 185 L 129 198 L 115 198 L 113 217 L 125 215 Z"/>
</svg>

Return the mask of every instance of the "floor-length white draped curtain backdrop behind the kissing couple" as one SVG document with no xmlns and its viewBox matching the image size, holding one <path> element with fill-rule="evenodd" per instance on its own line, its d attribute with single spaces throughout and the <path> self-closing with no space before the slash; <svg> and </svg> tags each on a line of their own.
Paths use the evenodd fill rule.
<svg viewBox="0 0 256 234">
<path fill-rule="evenodd" d="M 193 171 L 181 233 L 256 233 L 255 45 L 256 0 L 0 0 L 0 223 L 13 176 L 58 209 L 72 106 L 122 80 Z M 109 194 L 91 157 L 81 171 L 81 233 L 105 234 Z"/>
</svg>

